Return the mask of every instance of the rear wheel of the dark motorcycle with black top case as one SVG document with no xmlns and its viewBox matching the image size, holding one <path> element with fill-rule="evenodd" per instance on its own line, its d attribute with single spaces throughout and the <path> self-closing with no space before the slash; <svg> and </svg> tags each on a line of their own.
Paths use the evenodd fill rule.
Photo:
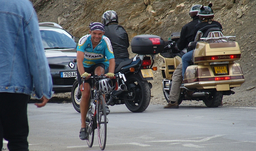
<svg viewBox="0 0 256 151">
<path fill-rule="evenodd" d="M 150 103 L 151 90 L 150 84 L 142 80 L 140 75 L 133 74 L 127 78 L 126 84 L 132 84 L 134 87 L 130 88 L 130 96 L 125 96 L 125 105 L 131 112 L 140 113 L 146 110 Z"/>
</svg>

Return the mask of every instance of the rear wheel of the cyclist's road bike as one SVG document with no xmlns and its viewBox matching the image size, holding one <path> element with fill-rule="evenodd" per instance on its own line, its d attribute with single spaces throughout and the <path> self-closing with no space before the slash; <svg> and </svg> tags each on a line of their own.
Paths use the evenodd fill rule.
<svg viewBox="0 0 256 151">
<path fill-rule="evenodd" d="M 89 111 L 88 111 L 89 112 Z M 86 127 L 87 127 L 87 144 L 89 147 L 93 146 L 93 141 L 94 141 L 94 132 L 95 132 L 95 121 L 96 118 L 94 118 L 94 114 L 92 113 L 87 113 L 86 116 Z"/>
</svg>

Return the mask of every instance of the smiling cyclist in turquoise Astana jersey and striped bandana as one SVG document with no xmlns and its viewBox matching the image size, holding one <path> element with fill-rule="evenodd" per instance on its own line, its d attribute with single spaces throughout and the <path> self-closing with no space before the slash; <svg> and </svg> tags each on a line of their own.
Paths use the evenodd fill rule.
<svg viewBox="0 0 256 151">
<path fill-rule="evenodd" d="M 80 89 L 82 89 L 81 77 L 85 76 L 84 91 L 82 91 L 82 98 L 80 102 L 81 111 L 81 130 L 79 137 L 82 140 L 87 139 L 86 130 L 86 114 L 89 107 L 90 99 L 90 85 L 88 78 L 91 74 L 101 75 L 104 70 L 109 67 L 107 77 L 114 77 L 115 59 L 112 51 L 112 46 L 109 38 L 104 36 L 104 25 L 99 22 L 90 23 L 89 35 L 83 36 L 79 40 L 76 48 L 77 51 L 77 80 Z M 82 73 L 82 75 L 80 75 Z M 104 97 L 104 96 L 103 96 Z M 107 105 L 106 113 L 109 114 L 110 110 Z"/>
</svg>

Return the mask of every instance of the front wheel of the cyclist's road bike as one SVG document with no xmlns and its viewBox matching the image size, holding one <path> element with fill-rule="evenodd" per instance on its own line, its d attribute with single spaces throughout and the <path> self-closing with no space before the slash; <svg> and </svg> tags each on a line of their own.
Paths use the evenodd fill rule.
<svg viewBox="0 0 256 151">
<path fill-rule="evenodd" d="M 106 146 L 106 124 L 107 124 L 107 118 L 106 118 L 106 107 L 105 107 L 105 101 L 102 95 L 98 98 L 98 104 L 97 104 L 97 130 L 98 130 L 98 139 L 99 139 L 99 145 L 100 149 L 104 150 Z"/>
</svg>

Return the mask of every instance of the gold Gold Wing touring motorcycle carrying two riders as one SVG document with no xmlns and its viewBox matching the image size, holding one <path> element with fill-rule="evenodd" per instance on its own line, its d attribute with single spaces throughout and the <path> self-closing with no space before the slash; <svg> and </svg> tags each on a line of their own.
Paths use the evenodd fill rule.
<svg viewBox="0 0 256 151">
<path fill-rule="evenodd" d="M 167 102 L 172 74 L 184 54 L 173 53 L 173 41 L 177 39 L 177 34 L 171 37 L 165 47 L 167 52 L 159 55 L 164 60 L 161 67 L 162 89 Z M 241 57 L 235 37 L 223 36 L 221 31 L 209 30 L 205 38 L 190 42 L 188 48 L 194 50 L 192 65 L 186 69 L 184 83 L 180 87 L 179 105 L 183 100 L 202 100 L 207 107 L 220 106 L 223 95 L 234 94 L 231 89 L 240 87 L 245 81 L 240 64 L 235 62 Z"/>
</svg>

